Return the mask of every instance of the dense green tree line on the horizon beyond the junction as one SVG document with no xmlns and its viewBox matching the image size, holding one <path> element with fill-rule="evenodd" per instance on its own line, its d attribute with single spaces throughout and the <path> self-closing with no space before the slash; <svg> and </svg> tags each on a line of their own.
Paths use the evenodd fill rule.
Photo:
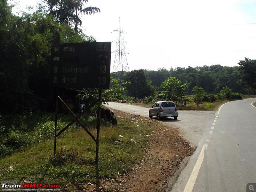
<svg viewBox="0 0 256 192">
<path fill-rule="evenodd" d="M 256 60 L 244 58 L 238 64 L 240 66 L 204 65 L 203 67 L 194 68 L 190 66 L 188 68 L 170 68 L 170 70 L 159 68 L 157 71 L 140 69 L 124 72 L 123 79 L 122 76 L 119 76 L 119 72 L 112 73 L 111 76 L 120 79 L 120 81 L 132 82 L 131 85 L 126 87 L 127 94 L 136 98 L 148 97 L 152 95 L 152 92 L 161 91 L 163 87 L 172 86 L 171 82 L 172 84 L 178 84 L 177 81 L 179 81 L 179 84 L 186 85 L 182 89 L 188 95 L 193 94 L 195 86 L 210 94 L 217 94 L 224 87 L 232 89 L 233 92 L 255 94 Z M 170 82 L 168 79 L 171 77 L 175 80 L 172 79 Z M 172 91 L 174 90 L 172 89 Z M 137 94 L 134 94 L 135 92 Z M 138 97 L 140 92 L 140 97 Z M 171 95 L 174 99 L 174 94 Z"/>
</svg>

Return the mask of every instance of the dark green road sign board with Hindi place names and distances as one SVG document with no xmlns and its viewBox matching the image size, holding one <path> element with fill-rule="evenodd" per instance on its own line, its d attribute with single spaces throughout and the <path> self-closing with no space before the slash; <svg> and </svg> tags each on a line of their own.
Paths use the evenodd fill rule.
<svg viewBox="0 0 256 192">
<path fill-rule="evenodd" d="M 109 89 L 111 42 L 52 44 L 52 84 Z"/>
</svg>

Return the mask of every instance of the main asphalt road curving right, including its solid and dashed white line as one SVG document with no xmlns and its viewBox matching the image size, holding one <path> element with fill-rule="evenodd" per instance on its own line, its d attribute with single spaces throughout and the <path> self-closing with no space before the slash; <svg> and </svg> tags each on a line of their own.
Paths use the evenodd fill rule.
<svg viewBox="0 0 256 192">
<path fill-rule="evenodd" d="M 256 182 L 254 101 L 232 101 L 219 108 L 171 191 L 246 191 L 248 183 Z"/>
</svg>

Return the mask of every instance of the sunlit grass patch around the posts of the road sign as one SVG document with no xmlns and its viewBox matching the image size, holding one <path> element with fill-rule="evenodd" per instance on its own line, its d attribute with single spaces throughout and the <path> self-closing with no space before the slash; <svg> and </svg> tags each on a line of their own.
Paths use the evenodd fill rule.
<svg viewBox="0 0 256 192">
<path fill-rule="evenodd" d="M 118 126 L 103 123 L 100 128 L 99 177 L 115 178 L 116 173 L 130 171 L 144 155 L 142 148 L 148 147 L 146 134 L 152 131 L 147 121 L 118 118 Z M 49 122 L 50 121 L 50 122 Z M 52 120 L 41 125 L 52 124 Z M 60 125 L 66 119 L 60 119 Z M 152 125 L 154 122 L 150 122 Z M 82 128 L 74 125 L 71 131 L 65 131 L 57 138 L 56 156 L 53 156 L 54 141 L 46 138 L 27 146 L 22 151 L 0 159 L 1 180 L 27 180 L 29 183 L 60 184 L 61 189 L 73 191 L 79 189 L 78 183 L 96 182 L 95 152 L 96 143 Z M 54 126 L 51 127 L 54 129 Z M 93 126 L 89 130 L 96 137 Z M 36 131 L 36 130 L 35 130 Z M 119 138 L 123 135 L 124 138 Z M 123 142 L 115 145 L 114 141 Z M 130 139 L 136 140 L 131 142 Z M 65 150 L 63 150 L 65 146 Z M 62 150 L 61 150 L 62 148 Z"/>
</svg>

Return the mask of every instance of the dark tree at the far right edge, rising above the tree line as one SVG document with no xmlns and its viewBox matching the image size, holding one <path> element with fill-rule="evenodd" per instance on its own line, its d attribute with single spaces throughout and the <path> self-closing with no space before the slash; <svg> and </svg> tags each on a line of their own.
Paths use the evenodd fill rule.
<svg viewBox="0 0 256 192">
<path fill-rule="evenodd" d="M 240 65 L 241 84 L 248 87 L 248 95 L 251 95 L 251 89 L 256 88 L 256 60 L 244 58 L 238 63 Z"/>
</svg>

